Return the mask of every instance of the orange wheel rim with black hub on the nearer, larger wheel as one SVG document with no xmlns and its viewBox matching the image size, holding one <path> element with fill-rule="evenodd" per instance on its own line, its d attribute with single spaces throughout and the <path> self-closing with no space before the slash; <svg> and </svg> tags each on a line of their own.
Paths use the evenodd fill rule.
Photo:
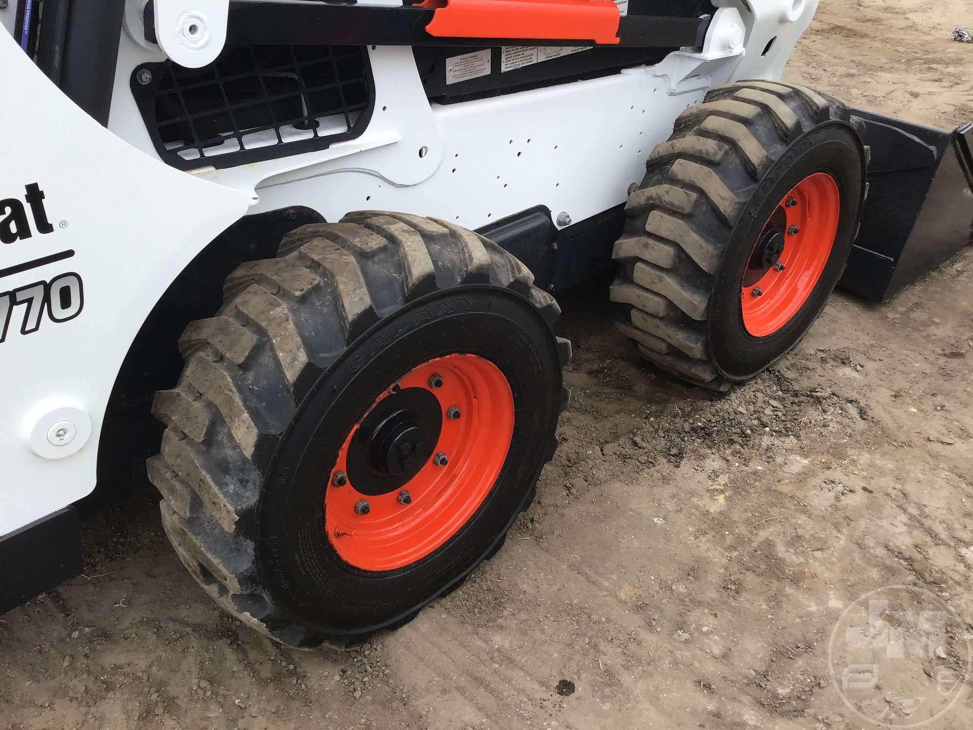
<svg viewBox="0 0 973 730">
<path fill-rule="evenodd" d="M 426 403 L 438 415 L 416 415 Z M 384 411 L 393 415 L 381 420 Z M 437 416 L 438 434 L 431 422 Z M 424 425 L 416 425 L 420 421 Z M 344 439 L 325 487 L 324 529 L 331 545 L 348 565 L 373 571 L 431 554 L 483 504 L 513 431 L 510 384 L 489 360 L 457 353 L 418 365 L 379 394 Z M 406 473 L 389 475 L 392 489 L 376 493 L 385 489 L 388 469 Z"/>
</svg>

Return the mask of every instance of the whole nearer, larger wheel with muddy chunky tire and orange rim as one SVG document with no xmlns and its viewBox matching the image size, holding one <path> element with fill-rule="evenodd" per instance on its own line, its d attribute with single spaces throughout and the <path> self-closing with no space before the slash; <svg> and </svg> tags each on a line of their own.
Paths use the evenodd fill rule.
<svg viewBox="0 0 973 730">
<path fill-rule="evenodd" d="M 167 428 L 149 476 L 163 496 L 166 534 L 216 602 L 285 644 L 341 648 L 408 622 L 499 549 L 553 456 L 570 345 L 552 331 L 558 305 L 532 285 L 523 265 L 450 223 L 352 213 L 339 224 L 294 231 L 278 256 L 237 269 L 226 282 L 224 307 L 183 334 L 185 370 L 174 389 L 156 397 L 154 412 Z M 348 506 L 358 498 L 348 502 L 357 477 L 348 457 L 348 475 L 341 472 L 339 482 L 336 463 L 343 466 L 338 459 L 378 403 L 390 408 L 392 398 L 407 395 L 399 383 L 450 356 L 453 366 L 455 358 L 460 365 L 470 357 L 486 360 L 509 383 L 517 415 L 509 450 L 495 462 L 497 476 L 481 486 L 482 499 L 467 505 L 469 517 L 435 533 L 438 542 L 427 539 L 430 547 L 418 558 L 404 553 L 406 563 L 386 569 L 381 524 L 378 542 L 367 543 L 364 553 L 343 549 L 342 540 L 357 539 L 356 530 L 364 534 L 365 521 L 376 515 Z M 462 367 L 450 372 L 463 374 Z M 440 423 L 433 392 L 412 390 L 420 391 L 427 420 L 436 420 L 433 445 L 440 427 L 445 433 L 452 423 L 475 425 L 473 416 Z M 401 409 L 393 415 L 400 413 L 414 417 Z M 401 459 L 401 439 L 412 438 L 415 423 L 399 427 L 391 416 L 382 418 L 375 449 Z M 399 428 L 394 453 L 389 422 Z M 372 458 L 368 449 L 361 453 Z M 409 468 L 436 472 L 432 453 L 422 456 Z M 393 477 L 361 472 L 372 468 L 363 463 L 358 484 L 366 490 L 372 480 L 366 490 L 372 510 L 379 502 L 410 508 L 396 496 L 422 471 Z M 388 490 L 384 478 L 391 480 Z M 427 499 L 439 499 L 441 485 Z M 447 504 L 449 516 L 455 502 L 426 503 Z M 341 525 L 326 531 L 340 504 Z"/>
</svg>

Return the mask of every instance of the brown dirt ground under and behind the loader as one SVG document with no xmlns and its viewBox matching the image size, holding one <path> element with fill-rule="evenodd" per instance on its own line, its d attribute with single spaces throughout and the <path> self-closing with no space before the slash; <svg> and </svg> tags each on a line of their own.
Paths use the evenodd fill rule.
<svg viewBox="0 0 973 730">
<path fill-rule="evenodd" d="M 954 126 L 965 24 L 967 0 L 823 0 L 787 77 Z M 643 366 L 605 282 L 567 295 L 558 455 L 458 591 L 358 650 L 281 649 L 198 589 L 147 494 L 0 617 L 0 728 L 865 727 L 829 677 L 845 606 L 915 585 L 973 623 L 971 292 L 967 249 L 889 305 L 840 294 L 722 398 Z M 973 700 L 927 727 L 973 728 Z"/>
</svg>

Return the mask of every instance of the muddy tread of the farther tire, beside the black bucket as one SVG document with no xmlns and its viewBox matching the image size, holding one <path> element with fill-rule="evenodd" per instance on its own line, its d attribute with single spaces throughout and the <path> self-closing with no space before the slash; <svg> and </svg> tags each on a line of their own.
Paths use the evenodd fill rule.
<svg viewBox="0 0 973 730">
<path fill-rule="evenodd" d="M 741 81 L 682 112 L 650 156 L 626 204 L 610 296 L 626 312 L 616 326 L 667 374 L 718 391 L 733 384 L 710 359 L 705 334 L 724 247 L 750 191 L 788 143 L 829 120 L 856 124 L 825 94 Z"/>
</svg>

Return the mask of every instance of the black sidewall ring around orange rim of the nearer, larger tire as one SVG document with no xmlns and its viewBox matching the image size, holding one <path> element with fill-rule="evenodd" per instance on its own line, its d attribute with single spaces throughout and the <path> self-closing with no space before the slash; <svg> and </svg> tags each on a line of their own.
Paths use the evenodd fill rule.
<svg viewBox="0 0 973 730">
<path fill-rule="evenodd" d="M 370 572 L 345 564 L 324 531 L 325 491 L 347 433 L 383 388 L 452 352 L 490 360 L 514 396 L 510 451 L 467 523 L 422 560 Z M 448 590 L 503 538 L 532 496 L 554 439 L 561 374 L 550 327 L 526 299 L 496 286 L 459 286 L 385 317 L 323 373 L 271 462 L 256 524 L 258 569 L 297 623 L 333 636 L 401 621 Z"/>
</svg>

